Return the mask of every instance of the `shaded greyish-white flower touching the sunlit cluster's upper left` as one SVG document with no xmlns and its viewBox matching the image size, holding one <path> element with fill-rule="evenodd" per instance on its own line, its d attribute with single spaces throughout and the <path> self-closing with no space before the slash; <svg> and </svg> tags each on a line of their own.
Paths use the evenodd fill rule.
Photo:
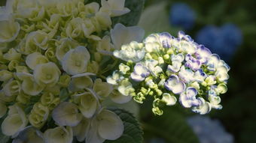
<svg viewBox="0 0 256 143">
<path fill-rule="evenodd" d="M 141 42 L 145 31 L 139 26 L 125 27 L 124 25 L 117 23 L 110 31 L 112 43 L 114 43 L 115 49 L 120 49 L 122 45 L 130 43 L 132 41 Z"/>
</svg>

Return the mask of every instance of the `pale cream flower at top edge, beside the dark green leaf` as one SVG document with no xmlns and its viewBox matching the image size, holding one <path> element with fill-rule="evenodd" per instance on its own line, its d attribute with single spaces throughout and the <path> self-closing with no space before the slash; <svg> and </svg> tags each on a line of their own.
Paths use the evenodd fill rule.
<svg viewBox="0 0 256 143">
<path fill-rule="evenodd" d="M 129 8 L 124 7 L 124 2 L 125 0 L 102 0 L 102 7 L 100 10 L 109 13 L 112 17 L 121 16 L 130 12 Z"/>
</svg>

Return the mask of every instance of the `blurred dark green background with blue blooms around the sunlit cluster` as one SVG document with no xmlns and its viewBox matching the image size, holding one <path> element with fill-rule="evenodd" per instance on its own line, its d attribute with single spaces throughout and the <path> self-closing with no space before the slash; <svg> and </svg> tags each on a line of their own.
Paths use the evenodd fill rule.
<svg viewBox="0 0 256 143">
<path fill-rule="evenodd" d="M 185 31 L 231 67 L 229 89 L 221 96 L 222 110 L 198 116 L 177 104 L 156 117 L 151 100 L 140 105 L 136 117 L 145 143 L 256 142 L 255 6 L 255 0 L 145 0 L 138 25 L 145 28 L 146 36 L 162 31 L 176 36 Z M 136 105 L 124 106 L 134 112 Z"/>
</svg>

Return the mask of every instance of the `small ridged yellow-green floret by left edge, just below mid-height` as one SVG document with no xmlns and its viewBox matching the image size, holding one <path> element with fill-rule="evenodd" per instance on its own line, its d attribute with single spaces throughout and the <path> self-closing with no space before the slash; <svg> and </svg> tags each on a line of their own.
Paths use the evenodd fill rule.
<svg viewBox="0 0 256 143">
<path fill-rule="evenodd" d="M 19 94 L 20 89 L 20 82 L 17 80 L 9 80 L 9 82 L 7 82 L 3 87 L 3 91 L 8 97 Z"/>
</svg>

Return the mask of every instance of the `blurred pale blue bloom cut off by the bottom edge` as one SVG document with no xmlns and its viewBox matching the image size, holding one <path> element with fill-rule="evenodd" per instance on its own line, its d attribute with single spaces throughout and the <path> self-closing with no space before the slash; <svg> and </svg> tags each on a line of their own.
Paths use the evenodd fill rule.
<svg viewBox="0 0 256 143">
<path fill-rule="evenodd" d="M 233 136 L 225 131 L 218 120 L 196 115 L 187 118 L 187 123 L 196 133 L 200 143 L 233 143 Z"/>
</svg>

